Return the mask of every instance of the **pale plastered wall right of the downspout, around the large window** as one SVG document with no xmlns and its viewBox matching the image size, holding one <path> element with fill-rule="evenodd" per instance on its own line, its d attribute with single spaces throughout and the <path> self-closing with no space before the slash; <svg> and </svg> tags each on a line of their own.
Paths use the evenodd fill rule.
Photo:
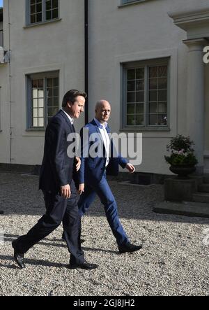
<svg viewBox="0 0 209 310">
<path fill-rule="evenodd" d="M 143 1 L 118 8 L 118 0 L 90 1 L 90 118 L 98 99 L 112 105 L 113 132 L 120 132 L 121 64 L 170 57 L 170 131 L 142 132 L 143 162 L 137 171 L 169 174 L 166 146 L 176 134 L 187 134 L 187 38 L 168 13 L 208 6 L 207 1 Z M 139 129 L 140 132 L 140 129 Z"/>
</svg>

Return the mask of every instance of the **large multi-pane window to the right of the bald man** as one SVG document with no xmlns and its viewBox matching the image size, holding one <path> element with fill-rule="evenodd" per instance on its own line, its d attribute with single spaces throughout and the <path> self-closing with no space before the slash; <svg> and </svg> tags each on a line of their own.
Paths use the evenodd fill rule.
<svg viewBox="0 0 209 310">
<path fill-rule="evenodd" d="M 125 127 L 168 127 L 169 64 L 124 66 Z"/>
</svg>

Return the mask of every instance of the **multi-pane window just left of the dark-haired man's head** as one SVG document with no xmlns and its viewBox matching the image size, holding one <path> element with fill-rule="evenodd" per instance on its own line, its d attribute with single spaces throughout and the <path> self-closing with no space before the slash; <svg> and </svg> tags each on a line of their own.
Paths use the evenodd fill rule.
<svg viewBox="0 0 209 310">
<path fill-rule="evenodd" d="M 45 129 L 59 111 L 59 73 L 27 76 L 28 129 Z"/>
</svg>

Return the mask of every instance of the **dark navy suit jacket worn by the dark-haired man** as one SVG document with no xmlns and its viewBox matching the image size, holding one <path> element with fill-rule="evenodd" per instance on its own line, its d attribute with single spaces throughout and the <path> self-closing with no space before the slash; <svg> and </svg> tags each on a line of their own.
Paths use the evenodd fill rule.
<svg viewBox="0 0 209 310">
<path fill-rule="evenodd" d="M 45 133 L 45 150 L 40 171 L 40 190 L 60 192 L 61 186 L 72 181 L 75 157 L 68 157 L 67 138 L 75 129 L 68 116 L 59 111 L 49 122 Z"/>
</svg>

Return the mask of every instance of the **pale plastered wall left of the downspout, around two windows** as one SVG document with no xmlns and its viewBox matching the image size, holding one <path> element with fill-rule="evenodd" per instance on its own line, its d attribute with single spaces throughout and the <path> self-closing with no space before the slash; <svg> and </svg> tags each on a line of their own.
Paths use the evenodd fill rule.
<svg viewBox="0 0 209 310">
<path fill-rule="evenodd" d="M 0 76 L 3 76 L 0 85 L 2 84 L 2 101 L 10 101 L 11 106 L 12 152 L 10 156 L 7 148 L 3 148 L 0 162 L 41 164 L 45 132 L 26 131 L 26 74 L 59 71 L 60 106 L 65 92 L 75 88 L 84 90 L 84 1 L 61 0 L 61 20 L 34 27 L 25 27 L 25 4 L 24 0 L 4 1 L 4 45 L 6 50 L 10 45 L 11 79 L 9 85 L 7 75 L 9 65 L 3 65 L 6 69 L 3 71 L 0 67 Z M 0 145 L 5 146 L 10 144 L 8 136 L 10 118 L 5 111 L 3 118 L 6 124 L 2 122 Z M 77 123 L 78 127 L 82 125 L 84 115 Z"/>
</svg>

